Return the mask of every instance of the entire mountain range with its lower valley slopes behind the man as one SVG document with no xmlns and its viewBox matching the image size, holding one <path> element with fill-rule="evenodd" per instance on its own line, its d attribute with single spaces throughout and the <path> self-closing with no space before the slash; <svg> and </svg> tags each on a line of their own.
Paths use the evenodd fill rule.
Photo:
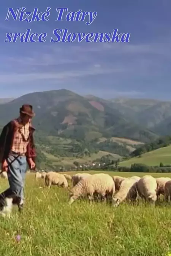
<svg viewBox="0 0 171 256">
<path fill-rule="evenodd" d="M 34 92 L 3 102 L 0 127 L 17 117 L 22 104 L 33 105 L 38 162 L 49 168 L 71 165 L 75 159 L 80 163 L 104 161 L 104 157 L 121 160 L 169 145 L 160 145 L 160 137 L 171 134 L 171 102 L 105 100 L 65 89 Z"/>
</svg>

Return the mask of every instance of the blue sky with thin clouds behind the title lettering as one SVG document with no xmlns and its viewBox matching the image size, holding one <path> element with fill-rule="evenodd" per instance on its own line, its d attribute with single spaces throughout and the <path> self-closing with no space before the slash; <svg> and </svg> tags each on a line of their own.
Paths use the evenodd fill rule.
<svg viewBox="0 0 171 256">
<path fill-rule="evenodd" d="M 39 7 L 44 12 L 49 6 L 47 22 L 5 21 L 8 7 L 27 7 L 27 11 Z M 90 25 L 55 21 L 57 7 L 97 11 L 97 17 Z M 0 97 L 65 88 L 104 98 L 171 99 L 170 0 L 6 0 L 0 17 Z M 6 33 L 24 33 L 29 28 L 46 32 L 47 41 L 5 43 Z M 66 28 L 74 33 L 118 29 L 131 33 L 130 42 L 50 43 L 54 29 Z"/>
</svg>

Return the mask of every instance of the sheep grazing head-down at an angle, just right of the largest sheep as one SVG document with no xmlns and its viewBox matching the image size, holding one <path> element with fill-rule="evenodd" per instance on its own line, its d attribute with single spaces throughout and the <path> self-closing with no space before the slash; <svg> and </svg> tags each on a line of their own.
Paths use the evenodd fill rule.
<svg viewBox="0 0 171 256">
<path fill-rule="evenodd" d="M 138 177 L 137 177 L 138 178 Z M 136 189 L 136 183 L 138 179 L 135 176 L 125 178 L 120 184 L 119 191 L 112 198 L 112 205 L 117 207 L 123 200 L 131 200 L 132 202 L 137 199 L 138 193 Z"/>
</svg>

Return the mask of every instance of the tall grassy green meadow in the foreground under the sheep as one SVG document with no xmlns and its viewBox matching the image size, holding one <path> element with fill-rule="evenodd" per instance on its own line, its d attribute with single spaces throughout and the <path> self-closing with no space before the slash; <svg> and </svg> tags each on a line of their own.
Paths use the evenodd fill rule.
<svg viewBox="0 0 171 256">
<path fill-rule="evenodd" d="M 91 171 L 90 173 L 97 173 Z M 143 176 L 144 173 L 110 175 Z M 71 173 L 72 174 L 72 173 Z M 149 174 L 149 173 L 148 173 Z M 155 177 L 171 173 L 153 173 Z M 1 191 L 8 181 L 0 179 Z M 155 208 L 76 201 L 69 206 L 68 189 L 44 188 L 33 173 L 26 178 L 22 215 L 14 208 L 10 219 L 0 217 L 0 252 L 3 256 L 169 256 L 171 206 Z M 17 235 L 21 240 L 17 242 Z"/>
</svg>

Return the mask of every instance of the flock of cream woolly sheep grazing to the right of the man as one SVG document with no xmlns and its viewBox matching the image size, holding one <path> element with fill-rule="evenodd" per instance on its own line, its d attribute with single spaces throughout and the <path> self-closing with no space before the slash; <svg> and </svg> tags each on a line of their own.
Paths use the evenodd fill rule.
<svg viewBox="0 0 171 256">
<path fill-rule="evenodd" d="M 71 180 L 69 204 L 76 199 L 88 198 L 90 204 L 92 200 L 108 201 L 117 207 L 123 201 L 136 202 L 138 198 L 145 202 L 155 204 L 162 194 L 168 202 L 171 196 L 171 178 L 154 178 L 145 175 L 142 178 L 132 176 L 124 178 L 120 176 L 110 176 L 106 173 L 89 174 L 76 173 L 72 176 L 57 172 L 36 173 L 36 179 L 43 178 L 45 185 L 62 186 L 68 188 L 68 181 Z"/>
</svg>

